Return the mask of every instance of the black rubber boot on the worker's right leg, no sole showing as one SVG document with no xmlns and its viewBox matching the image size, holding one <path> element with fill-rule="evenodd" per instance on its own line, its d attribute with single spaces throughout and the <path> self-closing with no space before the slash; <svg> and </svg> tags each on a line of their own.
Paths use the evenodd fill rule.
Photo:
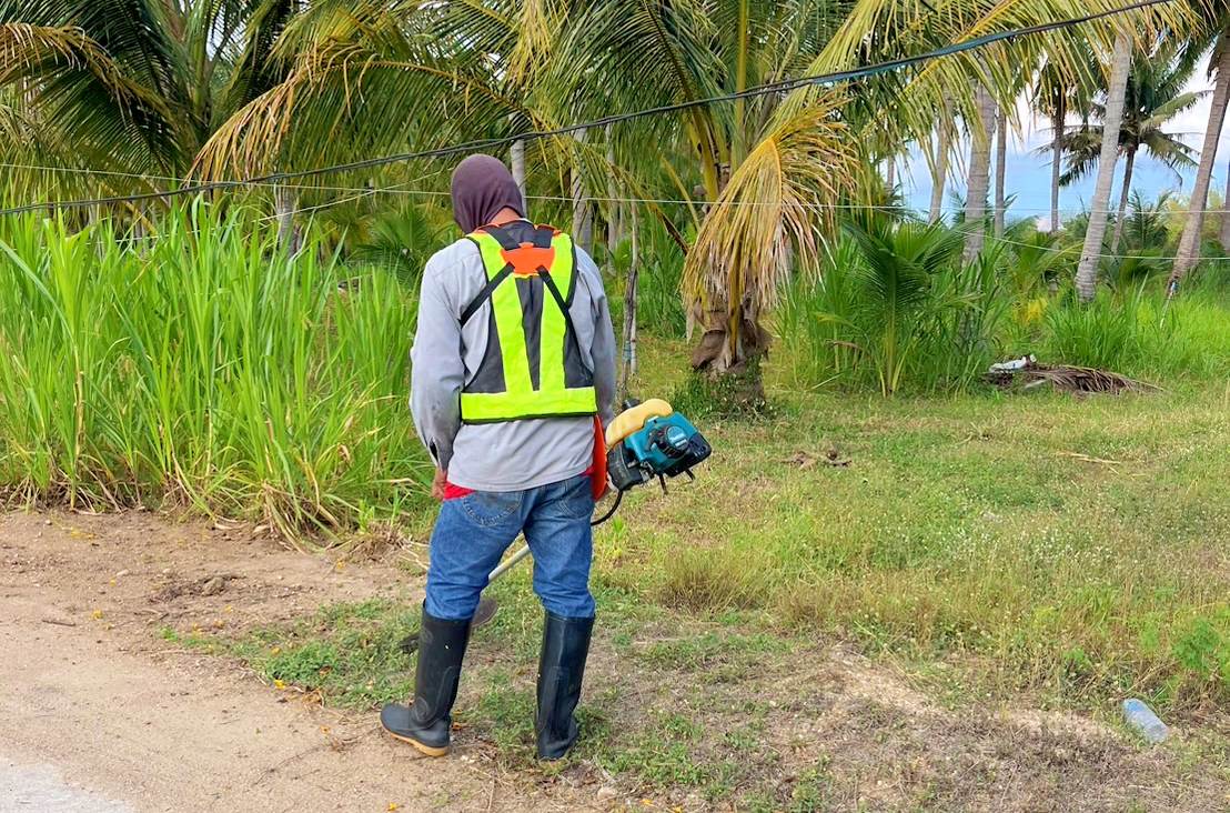
<svg viewBox="0 0 1230 813">
<path fill-rule="evenodd" d="M 542 653 L 539 657 L 538 733 L 539 759 L 561 759 L 577 742 L 573 712 L 585 676 L 593 619 L 565 619 L 546 614 Z"/>
</svg>

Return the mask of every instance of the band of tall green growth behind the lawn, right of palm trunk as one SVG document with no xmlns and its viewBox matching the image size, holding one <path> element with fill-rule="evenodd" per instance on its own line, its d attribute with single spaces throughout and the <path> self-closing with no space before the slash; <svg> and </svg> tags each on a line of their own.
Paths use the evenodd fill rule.
<svg viewBox="0 0 1230 813">
<path fill-rule="evenodd" d="M 1075 255 L 1049 236 L 1025 237 L 963 264 L 957 231 L 887 219 L 851 225 L 817 273 L 786 288 L 776 311 L 782 383 L 951 392 L 1026 353 L 1151 381 L 1230 375 L 1224 269 L 1203 268 L 1166 303 L 1162 279 L 1124 266 L 1081 304 L 1070 284 L 1049 291 L 1071 278 Z"/>
</svg>

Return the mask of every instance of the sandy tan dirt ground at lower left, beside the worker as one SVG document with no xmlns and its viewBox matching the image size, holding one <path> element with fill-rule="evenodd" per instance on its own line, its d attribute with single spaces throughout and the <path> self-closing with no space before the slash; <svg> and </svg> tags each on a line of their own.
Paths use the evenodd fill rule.
<svg viewBox="0 0 1230 813">
<path fill-rule="evenodd" d="M 246 530 L 69 513 L 0 519 L 0 811 L 584 807 L 481 754 L 418 758 L 374 715 L 309 706 L 156 636 L 371 595 L 396 568 L 339 571 Z M 221 592 L 203 595 L 218 576 Z"/>
</svg>

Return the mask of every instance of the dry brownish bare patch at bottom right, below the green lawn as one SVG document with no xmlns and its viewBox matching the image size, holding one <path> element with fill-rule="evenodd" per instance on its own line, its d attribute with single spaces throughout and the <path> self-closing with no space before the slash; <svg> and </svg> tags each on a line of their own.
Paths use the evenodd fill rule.
<svg viewBox="0 0 1230 813">
<path fill-rule="evenodd" d="M 658 632 L 676 641 L 690 626 Z M 734 641 L 700 669 L 637 680 L 638 696 L 625 702 L 681 711 L 704 731 L 681 739 L 692 760 L 727 766 L 732 796 L 766 809 L 1230 811 L 1224 715 L 1173 724 L 1171 742 L 1149 749 L 1074 712 L 947 708 L 841 646 L 748 652 Z M 661 802 L 706 807 L 685 790 L 665 790 Z"/>
</svg>

